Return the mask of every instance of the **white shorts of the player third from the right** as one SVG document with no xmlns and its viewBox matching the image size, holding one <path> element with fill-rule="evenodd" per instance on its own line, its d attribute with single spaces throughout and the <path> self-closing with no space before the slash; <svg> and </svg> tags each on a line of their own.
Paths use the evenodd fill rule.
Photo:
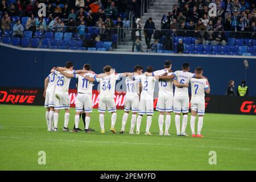
<svg viewBox="0 0 256 182">
<path fill-rule="evenodd" d="M 156 110 L 160 112 L 172 112 L 174 110 L 174 96 L 160 96 L 156 104 Z"/>
</svg>

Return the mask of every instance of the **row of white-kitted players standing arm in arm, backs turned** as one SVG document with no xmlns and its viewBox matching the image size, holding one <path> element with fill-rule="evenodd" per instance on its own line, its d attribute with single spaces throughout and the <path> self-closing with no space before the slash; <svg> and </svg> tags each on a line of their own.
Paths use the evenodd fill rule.
<svg viewBox="0 0 256 182">
<path fill-rule="evenodd" d="M 159 96 L 156 104 L 156 110 L 159 111 L 159 135 L 170 135 L 171 112 L 175 113 L 175 125 L 177 136 L 187 137 L 185 129 L 188 121 L 189 95 L 188 86 L 191 83 L 191 137 L 203 137 L 201 129 L 203 127 L 203 117 L 205 112 L 205 93 L 209 94 L 210 87 L 207 78 L 203 76 L 203 68 L 197 67 L 195 73 L 189 72 L 189 64 L 184 63 L 182 71 L 172 72 L 172 63 L 170 60 L 164 62 L 164 69 L 153 71 L 153 67 L 148 66 L 143 73 L 141 65 L 134 67 L 132 73 L 115 73 L 109 65 L 106 65 L 104 73 L 96 74 L 91 71 L 90 64 L 85 64 L 82 70 L 73 70 L 73 63 L 67 62 L 65 68 L 53 67 L 51 73 L 44 82 L 44 97 L 46 97 L 44 106 L 47 107 L 46 121 L 48 131 L 58 131 L 57 124 L 60 110 L 65 110 L 63 131 L 69 131 L 69 83 L 71 78 L 78 78 L 77 97 L 76 97 L 76 115 L 74 132 L 79 129 L 81 113 L 85 113 L 85 132 L 89 133 L 90 113 L 92 113 L 92 88 L 93 82 L 100 83 L 100 95 L 98 102 L 98 112 L 101 133 L 105 133 L 104 115 L 108 111 L 112 113 L 110 131 L 115 131 L 115 122 L 117 113 L 114 101 L 115 83 L 121 77 L 125 78 L 126 96 L 125 113 L 122 117 L 121 134 L 125 132 L 125 126 L 128 115 L 131 111 L 131 127 L 129 134 L 134 133 L 136 125 L 136 134 L 140 134 L 140 127 L 143 115 L 147 115 L 146 135 L 150 133 L 152 115 L 154 114 L 154 90 L 155 83 L 158 81 Z M 175 92 L 173 90 L 175 85 Z M 182 115 L 182 124 L 180 127 L 180 115 Z M 165 118 L 165 130 L 163 131 Z M 197 124 L 197 133 L 195 133 L 196 114 L 199 116 Z M 137 116 L 138 115 L 138 116 Z M 181 129 L 181 130 L 180 130 Z"/>
</svg>

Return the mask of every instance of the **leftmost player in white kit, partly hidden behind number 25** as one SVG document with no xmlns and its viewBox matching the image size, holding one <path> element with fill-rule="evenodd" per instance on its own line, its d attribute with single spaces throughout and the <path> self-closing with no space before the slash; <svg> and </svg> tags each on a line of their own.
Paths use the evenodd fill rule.
<svg viewBox="0 0 256 182">
<path fill-rule="evenodd" d="M 55 73 L 50 73 L 44 80 L 44 107 L 46 107 L 46 122 L 47 130 L 53 130 L 53 114 L 54 114 L 54 92 L 57 82 L 57 75 Z"/>
</svg>

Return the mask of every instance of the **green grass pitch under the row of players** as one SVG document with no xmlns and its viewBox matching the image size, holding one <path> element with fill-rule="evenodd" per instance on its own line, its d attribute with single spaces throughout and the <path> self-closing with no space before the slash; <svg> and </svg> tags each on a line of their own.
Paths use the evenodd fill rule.
<svg viewBox="0 0 256 182">
<path fill-rule="evenodd" d="M 74 125 L 71 109 L 69 128 Z M 123 110 L 117 111 L 116 129 L 121 129 Z M 48 132 L 45 109 L 40 106 L 0 105 L 0 170 L 255 170 L 256 117 L 252 115 L 205 114 L 205 138 L 176 137 L 174 114 L 171 137 L 159 136 L 158 112 L 151 133 L 110 133 L 110 114 L 105 116 L 105 134 L 100 134 L 98 112 L 93 110 L 90 127 L 94 133 Z M 187 133 L 190 135 L 190 115 Z M 59 116 L 59 129 L 64 111 Z M 197 123 L 197 122 L 196 122 Z M 80 128 L 83 127 L 82 120 Z M 46 165 L 38 164 L 38 152 L 46 152 Z M 217 164 L 209 164 L 216 151 Z"/>
</svg>

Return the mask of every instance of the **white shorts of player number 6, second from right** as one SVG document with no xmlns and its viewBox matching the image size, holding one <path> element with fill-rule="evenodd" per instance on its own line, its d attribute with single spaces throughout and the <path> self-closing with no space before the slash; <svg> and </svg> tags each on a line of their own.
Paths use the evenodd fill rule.
<svg viewBox="0 0 256 182">
<path fill-rule="evenodd" d="M 189 109 L 189 98 L 185 97 L 175 97 L 174 96 L 174 113 L 188 113 Z"/>
</svg>

